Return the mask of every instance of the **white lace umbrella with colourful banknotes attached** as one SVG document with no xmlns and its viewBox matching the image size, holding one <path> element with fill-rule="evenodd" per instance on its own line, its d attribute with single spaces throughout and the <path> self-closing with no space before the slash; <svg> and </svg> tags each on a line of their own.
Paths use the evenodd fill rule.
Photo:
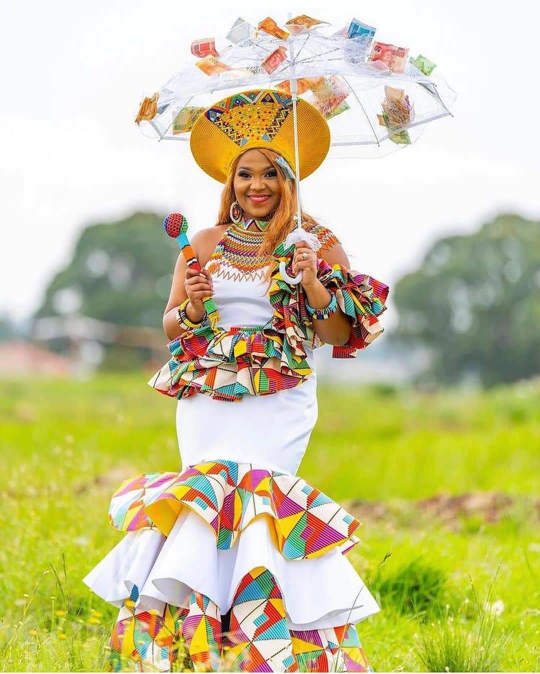
<svg viewBox="0 0 540 674">
<path fill-rule="evenodd" d="M 300 207 L 299 99 L 327 119 L 333 158 L 383 156 L 410 145 L 431 121 L 452 115 L 455 93 L 432 75 L 436 64 L 386 36 L 377 40 L 376 32 L 356 18 L 339 29 L 306 15 L 281 25 L 271 17 L 254 24 L 238 18 L 223 37 L 195 40 L 191 57 L 145 96 L 135 121 L 150 137 L 189 142 L 195 121 L 218 96 L 259 88 L 286 92 L 294 119 L 297 214 L 285 245 L 309 242 Z M 291 284 L 302 278 L 302 272 L 289 276 L 284 263 L 280 272 Z"/>
</svg>

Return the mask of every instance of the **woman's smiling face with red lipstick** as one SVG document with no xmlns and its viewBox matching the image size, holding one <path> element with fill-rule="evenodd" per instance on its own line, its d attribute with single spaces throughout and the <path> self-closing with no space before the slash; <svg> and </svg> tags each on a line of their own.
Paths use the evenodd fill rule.
<svg viewBox="0 0 540 674">
<path fill-rule="evenodd" d="M 246 218 L 265 220 L 279 205 L 277 168 L 257 148 L 246 150 L 238 159 L 233 185 Z"/>
</svg>

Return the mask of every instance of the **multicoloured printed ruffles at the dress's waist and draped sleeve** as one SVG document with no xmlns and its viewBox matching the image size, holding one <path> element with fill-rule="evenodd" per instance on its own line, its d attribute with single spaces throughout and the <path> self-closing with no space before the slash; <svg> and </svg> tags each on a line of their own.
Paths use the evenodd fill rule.
<svg viewBox="0 0 540 674">
<path fill-rule="evenodd" d="M 168 344 L 172 359 L 148 384 L 174 398 L 202 393 L 238 402 L 245 394 L 275 394 L 306 381 L 312 369 L 304 344 L 315 348 L 324 342 L 314 332 L 302 286 L 290 286 L 279 273 L 279 262 L 290 264 L 294 253 L 294 246 L 283 246 L 273 255 L 268 291 L 273 315 L 267 323 L 184 332 Z M 323 258 L 318 259 L 317 278 L 351 318 L 349 339 L 343 346 L 333 346 L 332 356 L 353 358 L 384 332 L 378 316 L 386 309 L 389 287 L 372 276 L 331 266 Z"/>
</svg>

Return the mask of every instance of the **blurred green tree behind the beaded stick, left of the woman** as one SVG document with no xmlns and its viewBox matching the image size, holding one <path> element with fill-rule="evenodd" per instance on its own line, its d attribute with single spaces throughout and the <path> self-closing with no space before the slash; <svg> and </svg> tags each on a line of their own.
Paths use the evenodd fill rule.
<svg viewBox="0 0 540 674">
<path fill-rule="evenodd" d="M 88 226 L 71 262 L 46 288 L 35 317 L 77 313 L 110 323 L 162 328 L 178 247 L 163 218 L 137 212 Z"/>
</svg>

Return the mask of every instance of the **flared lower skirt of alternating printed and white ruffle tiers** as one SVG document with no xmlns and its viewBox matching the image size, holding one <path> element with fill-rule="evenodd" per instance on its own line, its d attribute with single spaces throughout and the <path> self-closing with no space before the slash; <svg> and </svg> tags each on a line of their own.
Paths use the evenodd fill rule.
<svg viewBox="0 0 540 674">
<path fill-rule="evenodd" d="M 125 536 L 83 579 L 120 608 L 109 671 L 372 671 L 354 625 L 379 607 L 344 556 L 361 524 L 302 478 L 138 474 L 109 517 Z"/>
</svg>

